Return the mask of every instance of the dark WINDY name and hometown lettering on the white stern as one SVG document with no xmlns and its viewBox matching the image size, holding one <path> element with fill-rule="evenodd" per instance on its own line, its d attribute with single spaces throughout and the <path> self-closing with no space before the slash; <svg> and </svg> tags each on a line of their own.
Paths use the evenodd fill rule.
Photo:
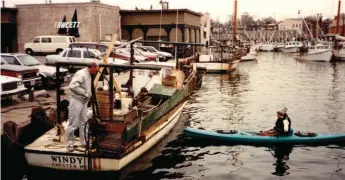
<svg viewBox="0 0 345 180">
<path fill-rule="evenodd" d="M 71 156 L 51 156 L 52 166 L 69 168 L 69 169 L 79 169 L 86 168 L 84 165 L 84 159 L 82 157 L 71 157 Z"/>
</svg>

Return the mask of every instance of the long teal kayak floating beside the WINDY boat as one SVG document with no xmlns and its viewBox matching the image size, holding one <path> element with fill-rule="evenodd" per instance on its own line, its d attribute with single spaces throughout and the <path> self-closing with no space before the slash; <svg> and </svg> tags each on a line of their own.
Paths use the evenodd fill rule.
<svg viewBox="0 0 345 180">
<path fill-rule="evenodd" d="M 194 128 L 185 128 L 184 135 L 192 138 L 222 140 L 238 144 L 338 144 L 345 142 L 345 134 L 301 133 L 290 135 L 260 136 L 255 132 L 230 130 L 211 131 Z"/>
</svg>

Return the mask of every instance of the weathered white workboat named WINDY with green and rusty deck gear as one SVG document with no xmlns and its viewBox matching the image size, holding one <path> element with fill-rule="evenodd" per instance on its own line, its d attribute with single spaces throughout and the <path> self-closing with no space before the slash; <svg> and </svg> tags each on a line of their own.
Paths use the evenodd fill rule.
<svg viewBox="0 0 345 180">
<path fill-rule="evenodd" d="M 56 65 L 87 64 L 58 62 Z M 79 138 L 75 137 L 74 151 L 67 150 L 67 122 L 61 122 L 61 109 L 57 106 L 57 126 L 24 148 L 26 161 L 30 166 L 72 171 L 118 171 L 169 133 L 178 122 L 188 97 L 199 83 L 194 63 L 181 67 L 186 68 L 184 70 L 169 63 L 100 66 L 110 69 L 108 77 L 102 75 L 105 79 L 109 78 L 108 83 L 105 83 L 109 88 L 92 86 L 92 106 L 87 112 L 90 133 L 86 138 L 89 141 L 87 144 L 92 146 L 82 147 Z M 124 85 L 127 88 L 119 88 L 113 79 L 116 68 L 137 69 L 130 71 L 129 79 Z M 59 72 L 57 76 L 59 77 Z M 144 77 L 145 81 L 140 77 Z M 141 85 L 136 86 L 137 83 Z M 113 89 L 114 85 L 116 91 Z M 131 89 L 140 87 L 146 87 L 148 94 L 136 105 L 133 103 Z M 60 104 L 60 86 L 57 86 L 56 91 L 57 104 Z M 124 93 L 122 91 L 129 93 L 128 96 L 119 95 L 119 105 L 119 96 L 114 94 Z M 134 89 L 133 94 L 138 92 Z"/>
</svg>

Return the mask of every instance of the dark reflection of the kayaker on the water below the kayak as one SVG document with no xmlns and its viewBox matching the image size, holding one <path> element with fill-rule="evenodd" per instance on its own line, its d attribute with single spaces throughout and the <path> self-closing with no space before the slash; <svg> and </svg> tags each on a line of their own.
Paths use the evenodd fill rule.
<svg viewBox="0 0 345 180">
<path fill-rule="evenodd" d="M 289 160 L 289 155 L 292 152 L 292 148 L 293 146 L 272 147 L 272 155 L 277 159 L 273 164 L 275 166 L 275 172 L 272 174 L 276 176 L 286 176 L 290 174 L 290 172 L 288 172 L 290 167 L 287 165 L 287 161 Z"/>
</svg>

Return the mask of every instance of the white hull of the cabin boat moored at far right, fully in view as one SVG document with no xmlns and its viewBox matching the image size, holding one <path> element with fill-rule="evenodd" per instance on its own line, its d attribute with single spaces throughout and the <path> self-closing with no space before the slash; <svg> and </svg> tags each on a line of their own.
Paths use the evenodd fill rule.
<svg viewBox="0 0 345 180">
<path fill-rule="evenodd" d="M 308 52 L 305 55 L 295 54 L 294 58 L 298 60 L 306 60 L 306 61 L 331 61 L 333 56 L 332 50 L 325 50 L 322 52 Z"/>
</svg>

